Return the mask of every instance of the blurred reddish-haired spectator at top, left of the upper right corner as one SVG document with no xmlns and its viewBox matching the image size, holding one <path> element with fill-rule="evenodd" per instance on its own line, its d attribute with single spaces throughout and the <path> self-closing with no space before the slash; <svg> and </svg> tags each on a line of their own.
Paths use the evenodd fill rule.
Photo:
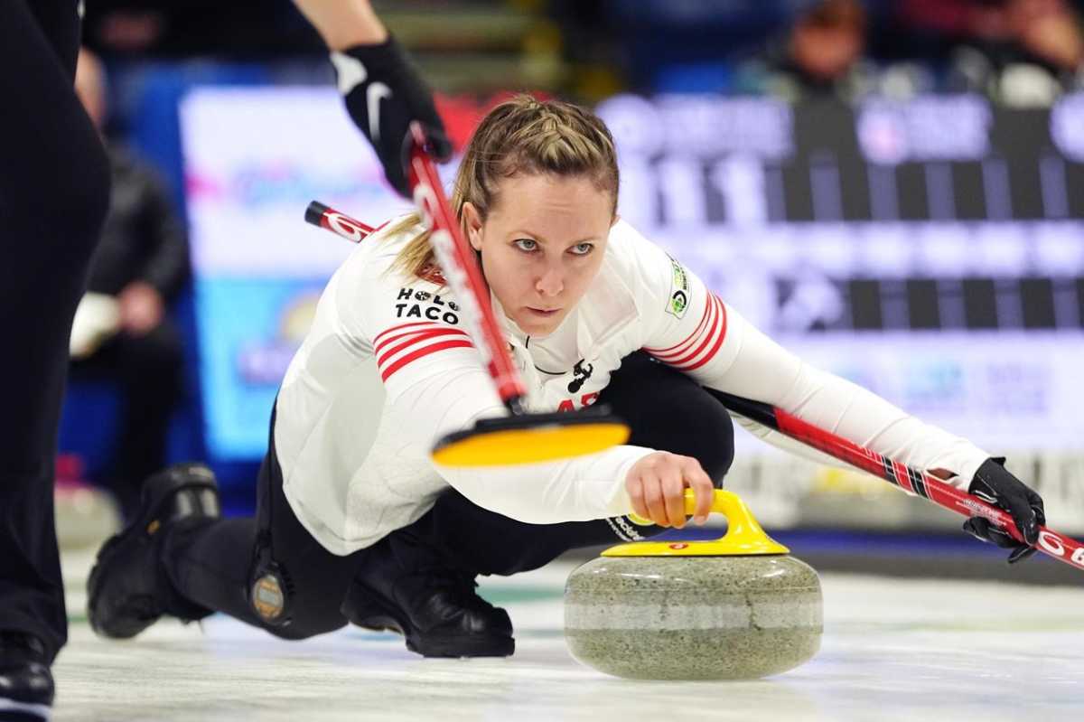
<svg viewBox="0 0 1084 722">
<path fill-rule="evenodd" d="M 866 11 L 859 0 L 821 0 L 760 57 L 740 67 L 735 89 L 788 100 L 854 98 L 869 86 L 863 63 L 866 35 Z"/>
</svg>

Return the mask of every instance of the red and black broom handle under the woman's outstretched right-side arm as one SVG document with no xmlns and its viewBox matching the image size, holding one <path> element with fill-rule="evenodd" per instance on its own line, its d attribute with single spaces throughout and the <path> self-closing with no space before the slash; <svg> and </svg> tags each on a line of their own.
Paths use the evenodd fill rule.
<svg viewBox="0 0 1084 722">
<path fill-rule="evenodd" d="M 775 429 L 784 436 L 823 451 L 829 456 L 856 466 L 874 476 L 879 476 L 887 481 L 891 481 L 901 489 L 922 497 L 951 512 L 956 512 L 964 516 L 983 516 L 990 519 L 991 523 L 1006 529 L 1018 541 L 1023 541 L 1023 537 L 1017 529 L 1016 523 L 1008 512 L 992 506 L 975 494 L 962 491 L 935 476 L 905 466 L 876 451 L 860 447 L 841 436 L 802 421 L 783 409 L 731 394 L 717 391 L 714 396 L 731 411 L 741 414 L 758 424 Z M 1079 569 L 1084 569 L 1084 544 L 1075 539 L 1058 533 L 1053 529 L 1040 527 L 1038 542 L 1035 546 L 1048 556 L 1053 556 L 1066 564 L 1071 564 Z"/>
</svg>

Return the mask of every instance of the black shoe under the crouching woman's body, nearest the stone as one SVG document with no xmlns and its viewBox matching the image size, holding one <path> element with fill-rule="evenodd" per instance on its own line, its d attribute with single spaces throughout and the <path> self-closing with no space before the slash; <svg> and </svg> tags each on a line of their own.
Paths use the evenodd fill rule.
<svg viewBox="0 0 1084 722">
<path fill-rule="evenodd" d="M 516 649 L 508 613 L 476 586 L 474 575 L 392 533 L 359 565 L 343 614 L 359 627 L 399 632 L 424 657 L 507 657 Z"/>
</svg>

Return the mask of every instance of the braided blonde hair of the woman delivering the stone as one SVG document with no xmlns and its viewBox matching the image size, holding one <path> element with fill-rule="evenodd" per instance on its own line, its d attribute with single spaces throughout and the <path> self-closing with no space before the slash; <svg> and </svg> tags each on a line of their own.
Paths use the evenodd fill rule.
<svg viewBox="0 0 1084 722">
<path fill-rule="evenodd" d="M 557 100 L 541 101 L 516 95 L 490 111 L 467 144 L 450 199 L 463 223 L 463 205 L 470 203 L 485 221 L 500 201 L 498 184 L 520 173 L 586 177 L 599 191 L 610 193 L 617 212 L 618 170 L 614 138 L 593 113 Z M 411 214 L 388 229 L 395 236 L 421 222 Z M 466 232 L 466 229 L 463 229 Z M 411 238 L 396 257 L 392 269 L 425 276 L 438 269 L 429 232 Z"/>
</svg>

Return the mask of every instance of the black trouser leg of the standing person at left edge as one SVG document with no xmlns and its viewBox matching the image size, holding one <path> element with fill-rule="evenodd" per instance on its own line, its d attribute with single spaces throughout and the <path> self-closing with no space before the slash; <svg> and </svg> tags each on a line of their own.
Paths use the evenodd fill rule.
<svg viewBox="0 0 1084 722">
<path fill-rule="evenodd" d="M 0 629 L 67 639 L 53 520 L 72 317 L 109 195 L 73 90 L 76 0 L 0 0 Z"/>
</svg>

